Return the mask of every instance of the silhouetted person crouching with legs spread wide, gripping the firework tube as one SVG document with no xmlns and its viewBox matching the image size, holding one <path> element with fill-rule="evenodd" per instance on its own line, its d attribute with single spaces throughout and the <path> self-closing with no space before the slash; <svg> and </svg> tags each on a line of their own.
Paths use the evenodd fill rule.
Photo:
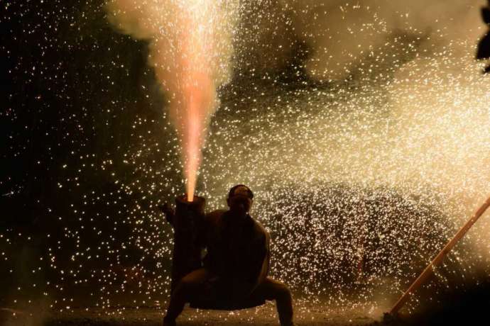
<svg viewBox="0 0 490 326">
<path fill-rule="evenodd" d="M 175 284 L 163 325 L 176 325 L 185 303 L 201 308 L 240 309 L 276 300 L 281 326 L 293 324 L 293 302 L 285 284 L 267 277 L 269 235 L 249 215 L 254 193 L 244 185 L 229 190 L 229 210 L 205 215 L 202 245 L 207 254 L 201 268 L 191 271 Z M 161 208 L 167 220 L 173 210 Z"/>
</svg>

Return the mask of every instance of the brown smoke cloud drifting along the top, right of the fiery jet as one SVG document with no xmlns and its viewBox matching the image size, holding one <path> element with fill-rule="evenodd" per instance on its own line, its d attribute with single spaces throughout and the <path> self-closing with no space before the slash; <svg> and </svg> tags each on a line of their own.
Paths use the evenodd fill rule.
<svg viewBox="0 0 490 326">
<path fill-rule="evenodd" d="M 476 45 L 484 28 L 479 10 L 484 4 L 484 0 L 246 1 L 241 11 L 247 19 L 241 23 L 244 30 L 236 46 L 239 64 L 242 69 L 276 69 L 294 55 L 296 44 L 305 43 L 309 47 L 305 68 L 311 77 L 342 79 L 361 60 L 380 55 L 379 49 L 394 33 L 418 38 L 419 52 L 427 55 L 461 40 Z M 462 53 L 469 52 L 459 46 Z"/>
</svg>

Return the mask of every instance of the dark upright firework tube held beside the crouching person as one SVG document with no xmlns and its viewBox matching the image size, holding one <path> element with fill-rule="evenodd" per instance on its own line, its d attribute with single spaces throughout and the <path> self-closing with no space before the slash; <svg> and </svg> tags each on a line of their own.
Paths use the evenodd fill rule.
<svg viewBox="0 0 490 326">
<path fill-rule="evenodd" d="M 175 198 L 175 215 L 171 222 L 174 230 L 172 292 L 180 279 L 201 267 L 205 204 L 205 198 L 198 196 L 194 196 L 193 201 L 187 201 L 187 196 Z"/>
</svg>

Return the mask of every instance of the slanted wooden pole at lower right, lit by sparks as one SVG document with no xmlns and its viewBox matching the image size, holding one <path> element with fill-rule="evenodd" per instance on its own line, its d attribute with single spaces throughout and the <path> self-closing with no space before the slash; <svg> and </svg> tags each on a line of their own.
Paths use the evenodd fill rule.
<svg viewBox="0 0 490 326">
<path fill-rule="evenodd" d="M 403 305 L 410 299 L 410 296 L 417 291 L 417 289 L 425 282 L 426 279 L 430 276 L 432 271 L 434 270 L 434 267 L 440 264 L 442 262 L 442 259 L 446 256 L 448 252 L 454 247 L 454 245 L 457 244 L 459 240 L 468 232 L 468 230 L 474 225 L 475 222 L 480 218 L 483 213 L 485 213 L 485 210 L 489 208 L 490 206 L 490 198 L 488 198 L 485 203 L 477 210 L 476 213 L 468 220 L 466 224 L 464 224 L 461 229 L 454 235 L 454 237 L 450 240 L 450 242 L 447 242 L 445 247 L 437 254 L 437 256 L 428 264 L 427 267 L 425 267 L 424 271 L 422 274 L 418 276 L 418 278 L 412 283 L 412 285 L 408 288 L 405 293 L 403 293 L 403 296 L 401 296 L 398 301 L 393 305 L 393 308 L 390 310 L 390 315 L 396 315 L 398 313 L 398 310 L 400 310 Z"/>
</svg>

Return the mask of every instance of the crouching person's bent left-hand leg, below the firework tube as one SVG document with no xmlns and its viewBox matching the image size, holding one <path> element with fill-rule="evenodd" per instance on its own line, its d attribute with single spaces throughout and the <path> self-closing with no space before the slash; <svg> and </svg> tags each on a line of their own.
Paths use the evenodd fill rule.
<svg viewBox="0 0 490 326">
<path fill-rule="evenodd" d="M 167 313 L 163 318 L 164 325 L 173 325 L 175 323 L 175 319 L 184 310 L 185 303 L 189 302 L 192 296 L 200 291 L 202 285 L 209 277 L 210 274 L 207 269 L 196 269 L 180 280 L 175 286 L 172 296 L 170 296 Z"/>
</svg>

